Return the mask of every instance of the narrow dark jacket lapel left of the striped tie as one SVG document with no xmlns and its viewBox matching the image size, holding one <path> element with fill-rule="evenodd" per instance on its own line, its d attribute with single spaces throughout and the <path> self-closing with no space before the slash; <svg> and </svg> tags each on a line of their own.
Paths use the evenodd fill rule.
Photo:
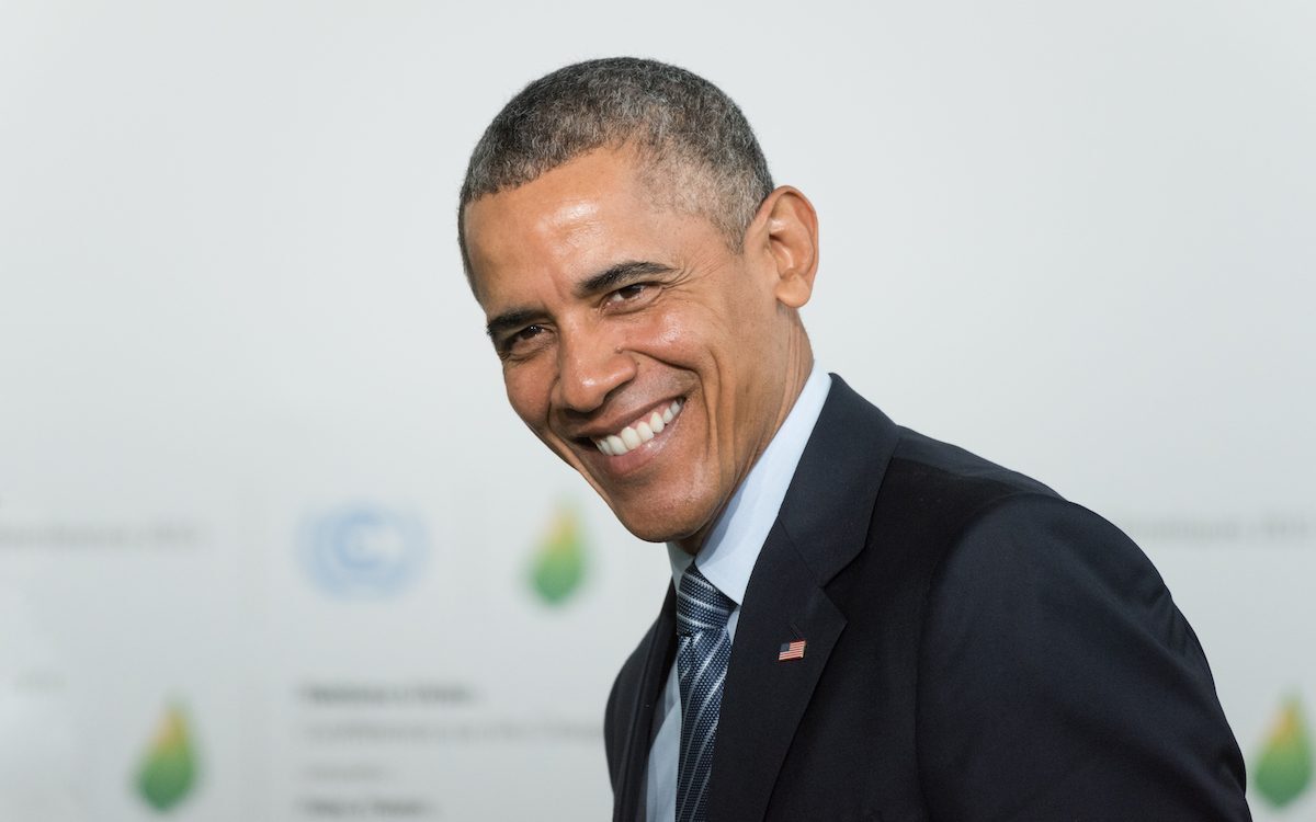
<svg viewBox="0 0 1316 822">
<path fill-rule="evenodd" d="M 649 647 L 645 654 L 644 669 L 640 673 L 640 689 L 636 693 L 630 713 L 630 729 L 626 733 L 626 747 L 622 751 L 621 796 L 617 801 L 619 822 L 644 819 L 645 781 L 647 777 L 649 747 L 653 743 L 654 710 L 661 701 L 662 688 L 667 680 L 676 652 L 676 592 L 667 587 L 658 619 L 649 631 Z"/>
</svg>

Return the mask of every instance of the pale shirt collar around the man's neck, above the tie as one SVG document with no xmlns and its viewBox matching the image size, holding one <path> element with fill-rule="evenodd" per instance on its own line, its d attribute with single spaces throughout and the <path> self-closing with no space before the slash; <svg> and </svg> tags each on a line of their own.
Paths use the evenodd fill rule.
<svg viewBox="0 0 1316 822">
<path fill-rule="evenodd" d="M 791 413 L 750 468 L 749 476 L 732 495 L 704 547 L 699 550 L 700 572 L 737 605 L 745 600 L 749 575 L 754 571 L 767 533 L 776 522 L 791 477 L 800 464 L 804 446 L 822 413 L 830 388 L 832 377 L 815 362 Z M 667 543 L 667 558 L 671 560 L 672 583 L 679 587 L 680 576 L 692 558 L 674 542 Z"/>
</svg>

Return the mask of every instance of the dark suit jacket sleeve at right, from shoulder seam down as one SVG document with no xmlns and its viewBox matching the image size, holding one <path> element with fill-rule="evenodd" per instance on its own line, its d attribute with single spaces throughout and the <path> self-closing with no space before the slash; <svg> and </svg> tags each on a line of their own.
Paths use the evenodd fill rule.
<svg viewBox="0 0 1316 822">
<path fill-rule="evenodd" d="M 934 819 L 1250 819 L 1196 635 L 1096 514 L 1016 495 L 932 577 L 919 768 Z"/>
</svg>

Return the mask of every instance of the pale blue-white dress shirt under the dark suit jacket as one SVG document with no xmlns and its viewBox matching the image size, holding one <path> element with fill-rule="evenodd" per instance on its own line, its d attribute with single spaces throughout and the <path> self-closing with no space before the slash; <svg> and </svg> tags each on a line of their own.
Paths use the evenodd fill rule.
<svg viewBox="0 0 1316 822">
<path fill-rule="evenodd" d="M 758 458 L 749 476 L 732 495 L 726 510 L 721 513 L 708 539 L 699 551 L 699 569 L 708 581 L 736 602 L 726 633 L 736 639 L 736 623 L 740 619 L 741 604 L 745 601 L 745 588 L 749 575 L 758 562 L 758 552 L 772 530 L 776 514 L 791 485 L 795 468 L 804 454 L 804 446 L 813 433 L 813 425 L 822 413 L 832 388 L 832 377 L 813 364 L 804 389 L 786 416 L 782 427 L 767 443 L 763 455 Z M 667 556 L 671 559 L 671 579 L 680 585 L 680 576 L 690 567 L 692 558 L 680 546 L 669 542 Z M 645 777 L 645 819 L 647 822 L 675 822 L 676 819 L 676 760 L 680 756 L 680 684 L 676 681 L 676 665 L 667 673 L 667 685 L 662 694 L 662 725 L 649 750 L 649 769 Z"/>
</svg>

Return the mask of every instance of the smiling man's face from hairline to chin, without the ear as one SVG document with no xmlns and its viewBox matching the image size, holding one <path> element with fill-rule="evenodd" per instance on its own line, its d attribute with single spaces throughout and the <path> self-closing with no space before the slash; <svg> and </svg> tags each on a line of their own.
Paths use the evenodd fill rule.
<svg viewBox="0 0 1316 822">
<path fill-rule="evenodd" d="M 790 410 L 808 343 L 769 243 L 732 251 L 654 176 L 592 151 L 471 203 L 466 245 L 512 408 L 632 533 L 690 550 Z"/>
</svg>

